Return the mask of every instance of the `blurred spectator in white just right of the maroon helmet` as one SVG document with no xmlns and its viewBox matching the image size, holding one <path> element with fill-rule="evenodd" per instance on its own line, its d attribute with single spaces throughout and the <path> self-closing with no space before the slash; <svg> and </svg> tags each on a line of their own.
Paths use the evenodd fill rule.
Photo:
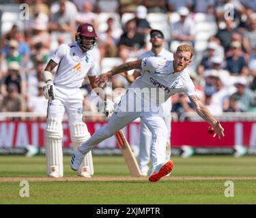
<svg viewBox="0 0 256 218">
<path fill-rule="evenodd" d="M 120 35 L 122 34 L 122 29 L 114 28 L 113 18 L 108 18 L 106 23 L 108 25 L 106 31 L 98 34 L 98 48 L 102 59 L 104 57 L 117 57 L 117 44 L 120 40 Z"/>
</svg>

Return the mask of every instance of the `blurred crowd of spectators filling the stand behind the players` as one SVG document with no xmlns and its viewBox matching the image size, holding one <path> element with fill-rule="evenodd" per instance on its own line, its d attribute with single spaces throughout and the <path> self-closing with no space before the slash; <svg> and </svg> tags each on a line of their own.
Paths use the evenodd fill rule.
<svg viewBox="0 0 256 218">
<path fill-rule="evenodd" d="M 43 93 L 42 71 L 60 44 L 74 42 L 74 33 L 81 23 L 89 22 L 97 30 L 98 44 L 91 52 L 98 74 L 102 73 L 104 58 L 119 58 L 124 62 L 150 50 L 152 27 L 148 13 L 179 14 L 180 19 L 170 23 L 168 48 L 173 41 L 195 45 L 195 14 L 212 17 L 218 30 L 208 38 L 207 48 L 188 72 L 198 96 L 214 115 L 256 112 L 256 1 L 23 0 L 17 3 L 29 5 L 29 20 L 24 21 L 23 28 L 14 23 L 10 31 L 1 34 L 0 112 L 46 113 L 48 102 Z M 111 13 L 102 31 L 98 29 L 99 15 L 106 12 Z M 134 17 L 116 25 L 117 19 L 111 14 L 118 14 L 121 20 L 126 14 Z M 111 78 L 112 87 L 105 90 L 107 95 L 113 95 L 115 103 L 129 86 L 128 74 Z M 97 112 L 86 79 L 82 89 L 85 111 Z M 194 111 L 183 93 L 174 95 L 172 104 L 177 119 L 184 112 Z"/>
</svg>

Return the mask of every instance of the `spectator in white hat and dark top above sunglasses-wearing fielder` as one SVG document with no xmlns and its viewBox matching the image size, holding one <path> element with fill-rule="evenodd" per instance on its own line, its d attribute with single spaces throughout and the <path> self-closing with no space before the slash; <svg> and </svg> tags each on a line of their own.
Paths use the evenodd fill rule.
<svg viewBox="0 0 256 218">
<path fill-rule="evenodd" d="M 135 20 L 138 33 L 146 37 L 151 31 L 150 23 L 147 21 L 147 7 L 143 5 L 137 7 Z"/>
</svg>

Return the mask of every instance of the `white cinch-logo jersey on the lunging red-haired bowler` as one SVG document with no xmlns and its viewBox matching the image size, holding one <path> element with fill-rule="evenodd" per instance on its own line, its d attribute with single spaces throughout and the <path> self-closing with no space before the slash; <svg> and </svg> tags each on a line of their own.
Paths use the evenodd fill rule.
<svg viewBox="0 0 256 218">
<path fill-rule="evenodd" d="M 130 88 L 133 88 L 131 91 L 138 88 L 134 91 L 137 97 L 142 96 L 143 88 L 146 88 L 144 90 L 150 90 L 150 95 L 147 95 L 147 92 L 144 91 L 144 101 L 150 101 L 152 97 L 161 99 L 158 92 L 153 93 L 152 88 L 161 88 L 165 101 L 171 95 L 180 92 L 187 96 L 196 95 L 195 85 L 190 76 L 184 71 L 174 72 L 173 61 L 161 57 L 146 57 L 141 62 L 141 68 L 141 76 L 132 83 Z M 147 99 L 145 99 L 145 96 L 147 96 Z"/>
</svg>

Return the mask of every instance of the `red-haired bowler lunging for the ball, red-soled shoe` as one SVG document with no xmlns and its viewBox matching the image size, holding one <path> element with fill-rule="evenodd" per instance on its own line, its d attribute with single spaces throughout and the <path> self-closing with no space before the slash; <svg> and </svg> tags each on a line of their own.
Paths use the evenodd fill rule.
<svg viewBox="0 0 256 218">
<path fill-rule="evenodd" d="M 144 98 L 143 104 L 147 104 L 147 102 L 152 102 L 156 97 L 157 99 L 164 98 L 166 101 L 171 95 L 184 92 L 195 107 L 197 114 L 214 128 L 214 137 L 216 135 L 218 135 L 218 138 L 224 136 L 224 129 L 221 126 L 221 123 L 216 121 L 210 111 L 201 104 L 199 97 L 195 94 L 195 86 L 192 80 L 189 75 L 183 71 L 191 62 L 193 54 L 193 48 L 190 45 L 184 44 L 177 47 L 177 50 L 173 55 L 173 61 L 165 60 L 160 57 L 149 57 L 142 60 L 123 63 L 122 65 L 111 69 L 109 72 L 98 76 L 96 82 L 100 87 L 103 87 L 109 77 L 115 74 L 127 72 L 131 69 L 142 69 L 143 71 L 142 76 L 132 83 L 131 87 L 126 92 L 126 95 L 122 97 L 117 108 L 115 108 L 115 112 L 111 116 L 111 119 L 109 119 L 109 123 L 98 129 L 91 138 L 83 142 L 81 146 L 79 146 L 79 149 L 76 150 L 70 161 L 72 170 L 79 170 L 83 158 L 94 148 L 94 146 L 106 138 L 113 136 L 119 129 L 122 129 L 134 119 L 141 117 L 152 132 L 151 158 L 153 170 L 149 180 L 151 182 L 156 182 L 162 178 L 162 176 L 171 172 L 173 169 L 173 161 L 166 161 L 165 159 L 167 127 L 162 118 L 162 112 L 156 112 L 157 110 L 161 111 L 159 104 L 162 102 L 150 104 L 150 111 L 129 111 L 126 110 L 127 107 L 129 108 L 127 99 L 132 99 L 132 102 L 139 102 Z M 145 89 L 150 95 L 141 95 Z"/>
</svg>

